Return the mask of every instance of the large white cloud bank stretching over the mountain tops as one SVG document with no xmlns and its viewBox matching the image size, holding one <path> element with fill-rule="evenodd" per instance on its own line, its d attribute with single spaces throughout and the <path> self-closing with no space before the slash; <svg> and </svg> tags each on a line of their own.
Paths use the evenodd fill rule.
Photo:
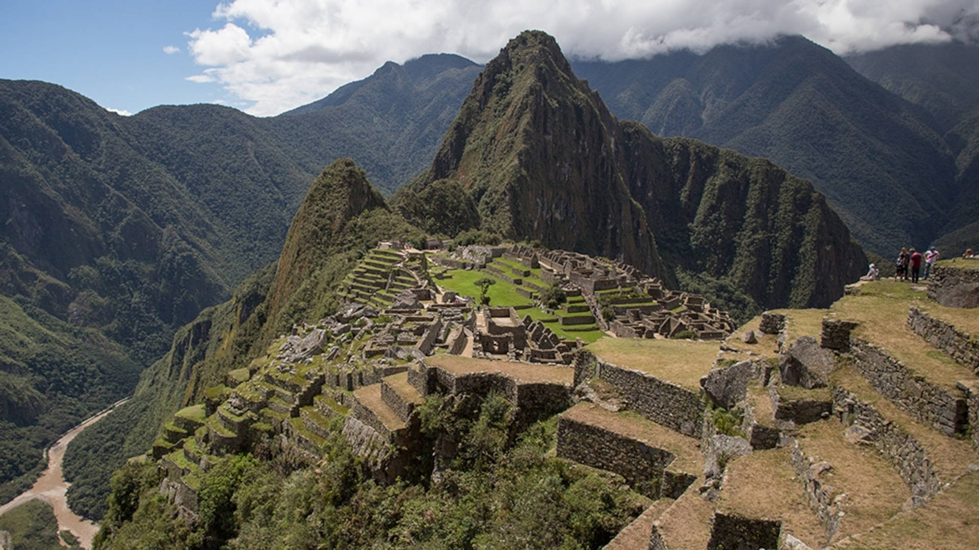
<svg viewBox="0 0 979 550">
<path fill-rule="evenodd" d="M 363 78 L 386 61 L 451 52 L 484 63 L 526 28 L 565 54 L 609 61 L 803 34 L 838 54 L 977 37 L 979 0 L 233 0 L 223 26 L 187 32 L 217 82 L 274 115 Z"/>
</svg>

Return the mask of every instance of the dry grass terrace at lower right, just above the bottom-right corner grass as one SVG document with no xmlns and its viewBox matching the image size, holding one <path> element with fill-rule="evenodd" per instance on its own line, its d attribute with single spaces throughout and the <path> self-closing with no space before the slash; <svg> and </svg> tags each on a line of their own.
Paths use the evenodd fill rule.
<svg viewBox="0 0 979 550">
<path fill-rule="evenodd" d="M 889 520 L 911 495 L 908 485 L 875 447 L 850 443 L 843 431 L 837 420 L 830 419 L 807 424 L 798 435 L 807 456 L 818 456 L 833 465 L 819 481 L 833 485 L 837 494 L 847 494 L 843 501 L 846 515 L 837 533 L 840 538 Z"/>
</svg>

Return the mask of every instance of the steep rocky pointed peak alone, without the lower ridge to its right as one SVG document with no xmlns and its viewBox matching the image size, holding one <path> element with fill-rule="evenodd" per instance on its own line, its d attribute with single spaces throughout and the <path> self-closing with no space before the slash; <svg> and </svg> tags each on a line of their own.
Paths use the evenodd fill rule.
<svg viewBox="0 0 979 550">
<path fill-rule="evenodd" d="M 407 191 L 456 181 L 483 229 L 622 258 L 669 278 L 615 161 L 617 142 L 615 117 L 554 39 L 524 32 L 476 79 L 429 173 Z"/>
</svg>

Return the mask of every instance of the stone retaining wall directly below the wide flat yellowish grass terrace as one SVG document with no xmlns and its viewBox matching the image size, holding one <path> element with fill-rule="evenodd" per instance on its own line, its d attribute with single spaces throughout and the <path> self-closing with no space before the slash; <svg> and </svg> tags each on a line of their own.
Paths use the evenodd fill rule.
<svg viewBox="0 0 979 550">
<path fill-rule="evenodd" d="M 629 409 L 680 434 L 700 435 L 703 406 L 699 393 L 612 363 L 596 360 L 595 366 L 598 378 L 629 400 Z M 578 370 L 576 366 L 576 382 Z"/>
</svg>

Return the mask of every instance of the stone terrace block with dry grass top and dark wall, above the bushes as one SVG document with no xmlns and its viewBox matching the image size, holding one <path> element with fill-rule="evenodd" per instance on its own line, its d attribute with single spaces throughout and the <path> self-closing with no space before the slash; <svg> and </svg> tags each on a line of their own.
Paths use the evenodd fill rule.
<svg viewBox="0 0 979 550">
<path fill-rule="evenodd" d="M 584 401 L 558 417 L 557 455 L 619 474 L 654 499 L 678 497 L 703 471 L 697 439 Z"/>
</svg>

